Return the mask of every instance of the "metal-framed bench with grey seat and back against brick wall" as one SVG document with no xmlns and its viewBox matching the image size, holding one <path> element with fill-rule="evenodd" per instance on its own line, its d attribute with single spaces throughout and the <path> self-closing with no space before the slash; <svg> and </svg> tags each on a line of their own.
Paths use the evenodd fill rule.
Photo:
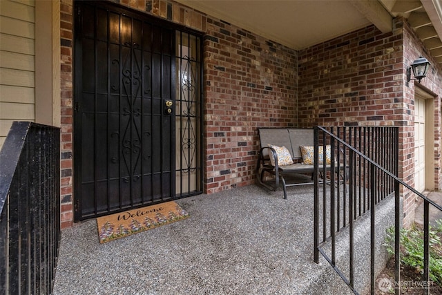
<svg viewBox="0 0 442 295">
<path fill-rule="evenodd" d="M 282 181 L 282 189 L 284 190 L 284 198 L 287 199 L 287 187 L 296 185 L 313 184 L 313 164 L 303 164 L 300 146 L 314 145 L 314 129 L 298 129 L 298 128 L 260 128 L 258 129 L 260 136 L 260 152 L 258 155 L 258 162 L 256 164 L 256 178 L 258 183 L 263 187 L 276 191 Z M 274 146 L 285 146 L 291 155 L 294 164 L 281 166 L 278 164 L 278 157 L 275 149 L 271 148 L 269 144 Z M 271 164 L 269 153 L 273 154 L 275 164 Z M 325 166 L 326 171 L 330 169 L 330 164 Z M 319 165 L 320 178 L 324 178 L 324 166 Z M 274 179 L 266 181 L 266 173 L 274 175 Z M 309 174 L 312 177 L 307 182 L 291 182 L 287 183 L 285 175 L 289 174 Z M 344 175 L 341 175 L 344 178 Z M 322 182 L 322 180 L 321 180 Z"/>
</svg>

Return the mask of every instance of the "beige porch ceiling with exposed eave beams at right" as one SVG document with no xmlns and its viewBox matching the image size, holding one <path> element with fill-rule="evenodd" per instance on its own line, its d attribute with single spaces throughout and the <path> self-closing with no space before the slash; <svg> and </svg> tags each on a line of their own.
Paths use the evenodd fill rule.
<svg viewBox="0 0 442 295">
<path fill-rule="evenodd" d="M 403 16 L 442 65 L 440 0 L 176 0 L 272 41 L 300 50 L 374 24 L 392 30 Z"/>
</svg>

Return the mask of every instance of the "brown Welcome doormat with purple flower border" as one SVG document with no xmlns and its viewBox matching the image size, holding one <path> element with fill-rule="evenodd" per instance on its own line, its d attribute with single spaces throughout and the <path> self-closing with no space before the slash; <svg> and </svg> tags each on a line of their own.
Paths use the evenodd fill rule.
<svg viewBox="0 0 442 295">
<path fill-rule="evenodd" d="M 188 218 L 175 202 L 165 202 L 97 218 L 99 242 L 104 243 Z"/>
</svg>

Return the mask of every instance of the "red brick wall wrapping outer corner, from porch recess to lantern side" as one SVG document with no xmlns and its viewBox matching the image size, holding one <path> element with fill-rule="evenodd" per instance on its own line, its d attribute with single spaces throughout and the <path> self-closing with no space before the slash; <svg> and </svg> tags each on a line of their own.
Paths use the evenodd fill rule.
<svg viewBox="0 0 442 295">
<path fill-rule="evenodd" d="M 399 177 L 414 185 L 414 83 L 405 70 L 425 53 L 403 19 L 382 34 L 374 26 L 299 52 L 298 124 L 300 126 L 399 126 Z M 436 62 L 433 63 L 434 65 Z M 441 70 L 422 85 L 439 93 L 435 99 L 435 186 L 440 188 Z M 438 82 L 439 81 L 439 82 Z M 415 198 L 404 196 L 404 222 L 414 220 Z"/>
</svg>

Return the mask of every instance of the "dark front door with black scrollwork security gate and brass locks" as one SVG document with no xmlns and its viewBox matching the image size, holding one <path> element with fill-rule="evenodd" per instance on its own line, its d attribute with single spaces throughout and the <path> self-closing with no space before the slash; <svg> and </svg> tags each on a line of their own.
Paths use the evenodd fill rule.
<svg viewBox="0 0 442 295">
<path fill-rule="evenodd" d="M 175 31 L 75 4 L 75 220 L 175 196 Z"/>
</svg>

